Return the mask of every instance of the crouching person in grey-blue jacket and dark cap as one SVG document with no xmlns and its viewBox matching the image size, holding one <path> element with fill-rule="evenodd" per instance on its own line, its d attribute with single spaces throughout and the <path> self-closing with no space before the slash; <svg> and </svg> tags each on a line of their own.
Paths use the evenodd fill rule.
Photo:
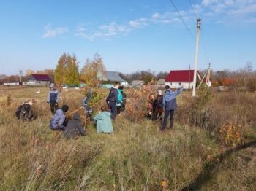
<svg viewBox="0 0 256 191">
<path fill-rule="evenodd" d="M 52 119 L 50 120 L 50 129 L 65 130 L 67 126 L 67 118 L 65 112 L 69 110 L 69 106 L 63 105 L 61 109 L 57 109 Z"/>
</svg>

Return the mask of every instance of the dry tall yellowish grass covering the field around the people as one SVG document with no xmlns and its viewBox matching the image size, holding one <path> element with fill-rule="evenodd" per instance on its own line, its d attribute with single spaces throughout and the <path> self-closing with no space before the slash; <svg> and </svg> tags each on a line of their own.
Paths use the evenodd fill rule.
<svg viewBox="0 0 256 191">
<path fill-rule="evenodd" d="M 182 96 L 178 99 L 180 106 L 175 116 L 174 130 L 159 133 L 156 123 L 149 120 L 130 122 L 124 114 L 113 123 L 115 133 L 111 135 L 97 134 L 91 123 L 87 128 L 88 136 L 67 141 L 61 132 L 49 128 L 50 109 L 45 104 L 48 89 L 41 89 L 39 95 L 35 94 L 36 90 L 29 87 L 0 89 L 0 190 L 181 190 L 203 171 L 208 160 L 219 154 L 215 136 L 209 137 L 208 130 L 197 128 L 196 123 L 193 123 L 193 127 L 188 125 L 190 121 L 187 117 L 190 116 L 186 108 L 191 103 Z M 10 106 L 6 106 L 8 94 L 11 94 Z M 247 103 L 243 102 L 247 96 L 243 96 L 239 95 L 235 100 L 236 111 L 244 112 L 242 103 Z M 72 112 L 80 107 L 82 97 L 77 90 L 63 92 L 60 105 L 68 104 L 69 112 Z M 37 100 L 35 109 L 39 116 L 31 122 L 17 120 L 15 109 L 28 98 Z M 210 98 L 208 103 L 211 103 L 211 99 L 230 101 L 224 95 Z M 213 109 L 209 104 L 201 109 L 204 107 Z M 218 111 L 218 107 L 215 114 L 211 110 L 211 116 L 217 115 Z M 237 115 L 240 117 L 242 114 L 239 112 Z M 246 122 L 244 126 L 252 130 L 254 116 L 247 113 L 244 116 L 246 120 L 239 122 Z M 214 125 L 218 127 L 222 121 L 224 124 L 224 119 L 227 118 L 218 119 Z M 247 139 L 253 138 L 251 131 L 246 133 L 244 136 Z M 232 157 L 227 159 L 223 169 L 227 168 L 229 161 L 233 161 Z M 251 164 L 251 167 L 255 165 Z M 222 177 L 224 184 L 210 181 L 202 189 L 224 187 L 232 180 L 231 169 L 226 174 L 221 171 L 214 179 L 219 181 Z M 241 169 L 237 171 L 243 172 Z M 249 176 L 244 173 L 246 177 L 253 175 L 252 171 Z M 236 187 L 240 190 L 253 188 L 255 182 L 249 180 L 251 182 L 246 184 L 244 179 L 241 180 Z"/>
</svg>

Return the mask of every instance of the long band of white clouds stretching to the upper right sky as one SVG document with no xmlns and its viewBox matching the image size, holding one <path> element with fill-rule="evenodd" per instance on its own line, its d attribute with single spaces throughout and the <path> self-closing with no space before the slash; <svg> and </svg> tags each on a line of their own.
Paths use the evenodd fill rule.
<svg viewBox="0 0 256 191">
<path fill-rule="evenodd" d="M 244 23 L 255 23 L 256 20 L 256 0 L 201 0 L 200 4 L 193 4 L 193 8 L 179 11 L 188 26 L 192 22 L 195 23 L 194 12 L 197 16 L 201 15 L 203 20 L 211 20 L 222 24 L 238 22 L 238 20 Z M 146 28 L 149 25 L 170 25 L 181 22 L 181 18 L 175 11 L 154 12 L 151 17 L 141 17 L 123 24 L 112 22 L 98 28 L 93 28 L 93 25 L 80 26 L 75 30 L 75 35 L 83 36 L 83 38 L 89 40 L 110 39 L 110 37 L 129 34 L 130 31 Z M 48 31 L 48 36 L 50 34 L 52 36 L 56 35 L 53 33 L 55 30 Z"/>
</svg>

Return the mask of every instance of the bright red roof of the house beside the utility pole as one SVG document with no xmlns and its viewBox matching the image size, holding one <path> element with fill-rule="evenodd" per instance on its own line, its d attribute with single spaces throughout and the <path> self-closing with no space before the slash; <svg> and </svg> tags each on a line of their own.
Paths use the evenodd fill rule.
<svg viewBox="0 0 256 191">
<path fill-rule="evenodd" d="M 193 80 L 194 70 L 173 70 L 165 77 L 165 82 L 193 82 Z"/>
</svg>

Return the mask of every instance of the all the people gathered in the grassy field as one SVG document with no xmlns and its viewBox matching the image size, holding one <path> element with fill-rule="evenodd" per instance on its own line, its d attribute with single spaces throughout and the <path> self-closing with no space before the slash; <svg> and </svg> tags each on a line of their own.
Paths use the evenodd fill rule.
<svg viewBox="0 0 256 191">
<path fill-rule="evenodd" d="M 50 104 L 50 112 L 53 117 L 50 120 L 50 129 L 64 131 L 64 137 L 73 138 L 78 135 L 85 136 L 86 130 L 83 128 L 78 112 L 72 116 L 72 120 L 67 120 L 66 112 L 69 106 L 64 104 L 59 108 L 59 91 L 54 84 L 50 84 L 50 90 L 47 95 L 47 103 Z M 165 130 L 167 125 L 167 118 L 170 117 L 170 128 L 173 128 L 173 114 L 177 107 L 176 96 L 183 91 L 183 87 L 177 90 L 170 90 L 169 85 L 165 85 L 165 93 L 162 90 L 157 90 L 157 97 L 154 94 L 149 95 L 148 98 L 148 114 L 147 117 L 152 120 L 160 120 L 162 122 L 160 130 Z M 100 111 L 92 117 L 92 107 L 89 106 L 89 101 L 92 97 L 91 90 L 89 90 L 83 98 L 82 105 L 84 115 L 89 116 L 96 122 L 97 133 L 113 133 L 112 121 L 116 119 L 116 115 L 124 110 L 126 104 L 126 94 L 123 92 L 123 87 L 115 82 L 110 88 L 106 102 L 106 106 L 101 106 Z M 24 102 L 18 107 L 15 114 L 20 120 L 33 120 L 34 114 L 31 106 L 34 105 L 34 99 Z"/>
</svg>

